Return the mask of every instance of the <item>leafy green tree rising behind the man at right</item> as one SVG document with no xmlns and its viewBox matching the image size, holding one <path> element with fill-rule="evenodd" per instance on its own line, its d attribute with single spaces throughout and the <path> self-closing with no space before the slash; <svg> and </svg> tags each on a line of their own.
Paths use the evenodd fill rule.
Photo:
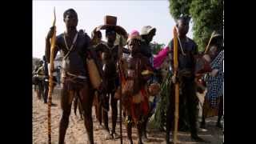
<svg viewBox="0 0 256 144">
<path fill-rule="evenodd" d="M 177 19 L 181 14 L 190 15 L 194 26 L 194 41 L 204 50 L 214 30 L 223 32 L 222 0 L 169 0 L 170 14 Z"/>
</svg>

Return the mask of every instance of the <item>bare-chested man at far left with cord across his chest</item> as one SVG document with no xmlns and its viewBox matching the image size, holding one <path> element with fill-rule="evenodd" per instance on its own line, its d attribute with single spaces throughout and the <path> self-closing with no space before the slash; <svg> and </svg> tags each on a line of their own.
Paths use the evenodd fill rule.
<svg viewBox="0 0 256 144">
<path fill-rule="evenodd" d="M 93 86 L 90 84 L 89 70 L 86 68 L 87 58 L 90 58 L 88 50 L 90 37 L 82 30 L 77 30 L 78 14 L 75 10 L 66 10 L 63 14 L 63 21 L 66 24 L 66 31 L 56 38 L 54 47 L 54 58 L 58 51 L 63 56 L 62 60 L 62 91 L 61 109 L 62 116 L 59 122 L 58 143 L 63 144 L 66 129 L 69 124 L 70 111 L 74 96 L 82 103 L 82 114 L 86 126 L 88 139 L 94 143 L 92 103 Z M 50 38 L 54 34 L 54 27 L 50 28 L 46 36 L 46 60 L 50 62 Z M 53 71 L 50 71 L 51 73 Z"/>
</svg>

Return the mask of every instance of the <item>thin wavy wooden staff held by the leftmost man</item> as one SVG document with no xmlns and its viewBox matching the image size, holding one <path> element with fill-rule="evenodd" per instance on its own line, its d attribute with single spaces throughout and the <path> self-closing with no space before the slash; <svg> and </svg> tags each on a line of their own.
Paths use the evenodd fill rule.
<svg viewBox="0 0 256 144">
<path fill-rule="evenodd" d="M 56 14 L 55 14 L 55 7 L 54 7 L 54 34 L 53 37 L 50 38 L 50 78 L 49 78 L 49 91 L 48 91 L 48 142 L 51 143 L 51 126 L 50 126 L 50 107 L 51 107 L 51 100 L 52 100 L 52 93 L 54 89 L 53 83 L 53 73 L 54 70 L 54 47 L 56 42 Z"/>
</svg>

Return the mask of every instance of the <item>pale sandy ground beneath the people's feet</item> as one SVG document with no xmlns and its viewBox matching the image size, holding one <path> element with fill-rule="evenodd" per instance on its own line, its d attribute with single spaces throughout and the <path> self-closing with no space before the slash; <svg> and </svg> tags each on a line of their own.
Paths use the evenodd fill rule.
<svg viewBox="0 0 256 144">
<path fill-rule="evenodd" d="M 60 105 L 59 105 L 59 96 L 58 90 L 55 90 L 55 94 L 53 95 L 53 102 L 58 104 L 58 106 L 53 106 L 51 109 L 51 122 L 52 122 L 52 143 L 58 143 L 58 122 L 60 119 Z M 110 117 L 110 113 L 109 113 Z M 215 127 L 217 118 L 207 118 L 207 130 L 199 130 L 198 134 L 202 138 L 210 141 L 211 144 L 220 144 L 223 140 L 222 130 Z M 118 144 L 120 143 L 120 139 L 116 140 L 106 140 L 106 131 L 99 126 L 98 121 L 96 120 L 94 114 L 94 107 L 93 107 L 93 121 L 94 121 L 94 142 L 97 144 Z M 111 118 L 110 124 L 111 127 Z M 116 127 L 116 132 L 120 134 L 119 122 Z M 122 136 L 123 136 L 123 143 L 127 143 L 127 134 L 126 134 L 126 126 L 122 122 Z M 137 130 L 133 128 L 133 140 L 134 143 L 137 143 Z M 165 133 L 159 132 L 158 130 L 154 130 L 152 128 L 148 128 L 148 142 L 144 143 L 166 143 L 165 141 Z M 193 142 L 190 139 L 189 132 L 179 132 L 178 139 L 181 141 L 182 144 L 194 144 L 200 142 Z M 86 144 L 87 141 L 87 134 L 86 129 L 83 125 L 83 121 L 79 116 L 74 115 L 74 110 L 72 110 L 70 114 L 70 124 L 66 131 L 66 144 Z M 43 144 L 48 142 L 47 137 L 47 105 L 42 102 L 42 100 L 38 100 L 38 98 L 33 95 L 33 143 L 34 144 Z M 205 142 L 201 142 L 203 144 Z"/>
</svg>

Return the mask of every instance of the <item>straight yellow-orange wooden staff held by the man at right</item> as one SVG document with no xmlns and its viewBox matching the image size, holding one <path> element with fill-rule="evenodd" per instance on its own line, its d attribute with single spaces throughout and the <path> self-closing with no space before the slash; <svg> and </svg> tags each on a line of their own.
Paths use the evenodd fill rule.
<svg viewBox="0 0 256 144">
<path fill-rule="evenodd" d="M 174 27 L 174 77 L 178 73 L 178 33 L 177 28 Z M 178 142 L 178 101 L 179 101 L 179 84 L 176 82 L 175 86 L 175 111 L 174 111 L 174 144 Z"/>
</svg>

